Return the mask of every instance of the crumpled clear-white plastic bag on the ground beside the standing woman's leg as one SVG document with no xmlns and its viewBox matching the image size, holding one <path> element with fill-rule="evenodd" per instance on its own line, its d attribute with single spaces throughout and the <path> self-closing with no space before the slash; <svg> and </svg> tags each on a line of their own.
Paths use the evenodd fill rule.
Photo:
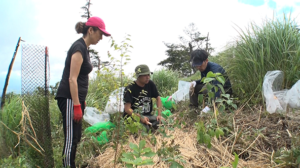
<svg viewBox="0 0 300 168">
<path fill-rule="evenodd" d="M 101 113 L 96 108 L 86 107 L 84 109 L 83 119 L 91 125 L 98 122 L 106 122 L 110 120 L 110 114 Z"/>
</svg>

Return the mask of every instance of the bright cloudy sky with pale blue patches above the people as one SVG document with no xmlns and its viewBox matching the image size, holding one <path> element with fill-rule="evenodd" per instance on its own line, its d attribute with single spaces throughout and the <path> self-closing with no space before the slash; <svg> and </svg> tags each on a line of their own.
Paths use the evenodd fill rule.
<svg viewBox="0 0 300 168">
<path fill-rule="evenodd" d="M 247 27 L 250 21 L 260 23 L 264 18 L 281 17 L 292 11 L 299 20 L 300 0 L 91 0 L 93 16 L 101 17 L 107 30 L 117 42 L 125 33 L 131 35 L 131 64 L 125 73 L 134 71 L 137 64 L 146 63 L 150 70 L 160 68 L 165 59 L 164 42 L 179 43 L 183 29 L 195 23 L 202 34 L 209 32 L 212 47 L 221 51 L 238 34 L 234 28 Z M 66 52 L 81 35 L 76 34 L 76 22 L 85 21 L 81 6 L 85 0 L 0 0 L 0 92 L 17 40 L 49 47 L 50 84 L 60 81 Z M 192 5 L 191 5 L 192 4 Z M 110 38 L 104 37 L 91 46 L 102 60 L 108 59 Z M 21 53 L 18 54 L 7 91 L 21 90 Z"/>
</svg>

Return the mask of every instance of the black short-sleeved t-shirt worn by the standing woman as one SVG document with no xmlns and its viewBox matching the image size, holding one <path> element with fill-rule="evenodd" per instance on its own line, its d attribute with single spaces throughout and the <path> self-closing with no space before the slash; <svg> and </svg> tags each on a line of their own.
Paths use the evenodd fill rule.
<svg viewBox="0 0 300 168">
<path fill-rule="evenodd" d="M 88 89 L 88 74 L 93 70 L 93 65 L 91 63 L 89 52 L 87 50 L 83 38 L 79 38 L 77 41 L 75 41 L 68 51 L 62 80 L 59 84 L 57 90 L 57 96 L 55 98 L 63 97 L 63 98 L 72 99 L 71 92 L 70 92 L 70 84 L 69 84 L 70 65 L 71 65 L 71 58 L 77 51 L 81 52 L 83 58 L 79 75 L 77 77 L 78 98 L 80 102 L 85 101 L 85 97 Z"/>
</svg>

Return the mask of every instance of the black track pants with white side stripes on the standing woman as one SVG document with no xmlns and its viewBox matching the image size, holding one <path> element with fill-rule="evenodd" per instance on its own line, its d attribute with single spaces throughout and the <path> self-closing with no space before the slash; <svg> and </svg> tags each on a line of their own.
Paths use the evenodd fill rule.
<svg viewBox="0 0 300 168">
<path fill-rule="evenodd" d="M 80 102 L 82 115 L 85 109 L 84 102 Z M 64 127 L 64 149 L 63 149 L 63 166 L 76 168 L 75 154 L 77 144 L 81 139 L 81 123 L 75 123 L 73 120 L 73 101 L 72 99 L 57 98 L 57 105 L 63 116 Z"/>
</svg>

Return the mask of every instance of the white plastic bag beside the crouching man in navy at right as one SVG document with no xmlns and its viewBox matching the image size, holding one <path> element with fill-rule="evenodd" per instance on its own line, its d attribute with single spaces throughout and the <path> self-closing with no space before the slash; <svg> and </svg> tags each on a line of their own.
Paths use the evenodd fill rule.
<svg viewBox="0 0 300 168">
<path fill-rule="evenodd" d="M 172 94 L 172 100 L 174 100 L 175 103 L 182 100 L 189 100 L 189 86 L 190 82 L 179 81 L 178 90 Z"/>
</svg>

